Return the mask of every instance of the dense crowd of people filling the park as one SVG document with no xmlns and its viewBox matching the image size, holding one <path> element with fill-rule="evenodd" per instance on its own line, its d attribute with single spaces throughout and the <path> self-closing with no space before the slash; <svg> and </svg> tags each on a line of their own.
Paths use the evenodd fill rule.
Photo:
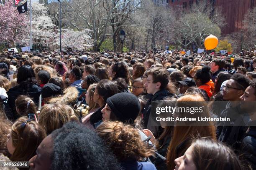
<svg viewBox="0 0 256 170">
<path fill-rule="evenodd" d="M 256 101 L 254 49 L 1 52 L 0 159 L 32 170 L 256 169 L 256 114 L 244 126 L 156 126 L 155 101 L 232 101 L 213 105 L 232 116 Z"/>
</svg>

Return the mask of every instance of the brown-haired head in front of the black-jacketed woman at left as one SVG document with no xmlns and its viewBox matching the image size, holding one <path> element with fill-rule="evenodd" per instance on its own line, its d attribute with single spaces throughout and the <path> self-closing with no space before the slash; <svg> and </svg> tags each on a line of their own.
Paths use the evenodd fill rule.
<svg viewBox="0 0 256 170">
<path fill-rule="evenodd" d="M 36 104 L 33 100 L 25 95 L 20 95 L 15 100 L 16 111 L 20 116 L 28 116 L 28 114 L 36 114 Z"/>
</svg>

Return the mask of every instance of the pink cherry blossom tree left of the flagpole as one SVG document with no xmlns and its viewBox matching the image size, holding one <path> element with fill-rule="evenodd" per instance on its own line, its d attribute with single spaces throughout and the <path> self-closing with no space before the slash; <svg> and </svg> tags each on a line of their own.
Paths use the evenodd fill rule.
<svg viewBox="0 0 256 170">
<path fill-rule="evenodd" d="M 19 14 L 12 0 L 0 4 L 0 42 L 20 42 L 28 34 L 28 16 Z"/>
</svg>

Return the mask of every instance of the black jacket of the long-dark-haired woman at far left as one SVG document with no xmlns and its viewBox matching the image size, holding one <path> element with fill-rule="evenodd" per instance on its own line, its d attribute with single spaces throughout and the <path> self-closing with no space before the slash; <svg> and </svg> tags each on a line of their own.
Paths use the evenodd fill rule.
<svg viewBox="0 0 256 170">
<path fill-rule="evenodd" d="M 20 95 L 27 95 L 31 97 L 34 103 L 38 103 L 39 96 L 41 95 L 41 87 L 36 84 L 28 85 L 28 89 L 25 91 L 21 85 L 12 87 L 7 92 L 8 104 L 13 110 L 13 114 L 16 115 L 15 100 Z M 15 116 L 14 116 L 15 117 Z M 17 118 L 17 117 L 16 117 Z"/>
</svg>

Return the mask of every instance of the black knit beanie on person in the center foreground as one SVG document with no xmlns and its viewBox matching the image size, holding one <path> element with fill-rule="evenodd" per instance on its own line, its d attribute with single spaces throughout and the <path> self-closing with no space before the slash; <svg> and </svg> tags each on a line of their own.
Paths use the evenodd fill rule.
<svg viewBox="0 0 256 170">
<path fill-rule="evenodd" d="M 131 124 L 133 124 L 141 109 L 138 98 L 127 92 L 120 92 L 108 97 L 107 104 L 111 113 L 115 114 L 119 121 Z"/>
</svg>

